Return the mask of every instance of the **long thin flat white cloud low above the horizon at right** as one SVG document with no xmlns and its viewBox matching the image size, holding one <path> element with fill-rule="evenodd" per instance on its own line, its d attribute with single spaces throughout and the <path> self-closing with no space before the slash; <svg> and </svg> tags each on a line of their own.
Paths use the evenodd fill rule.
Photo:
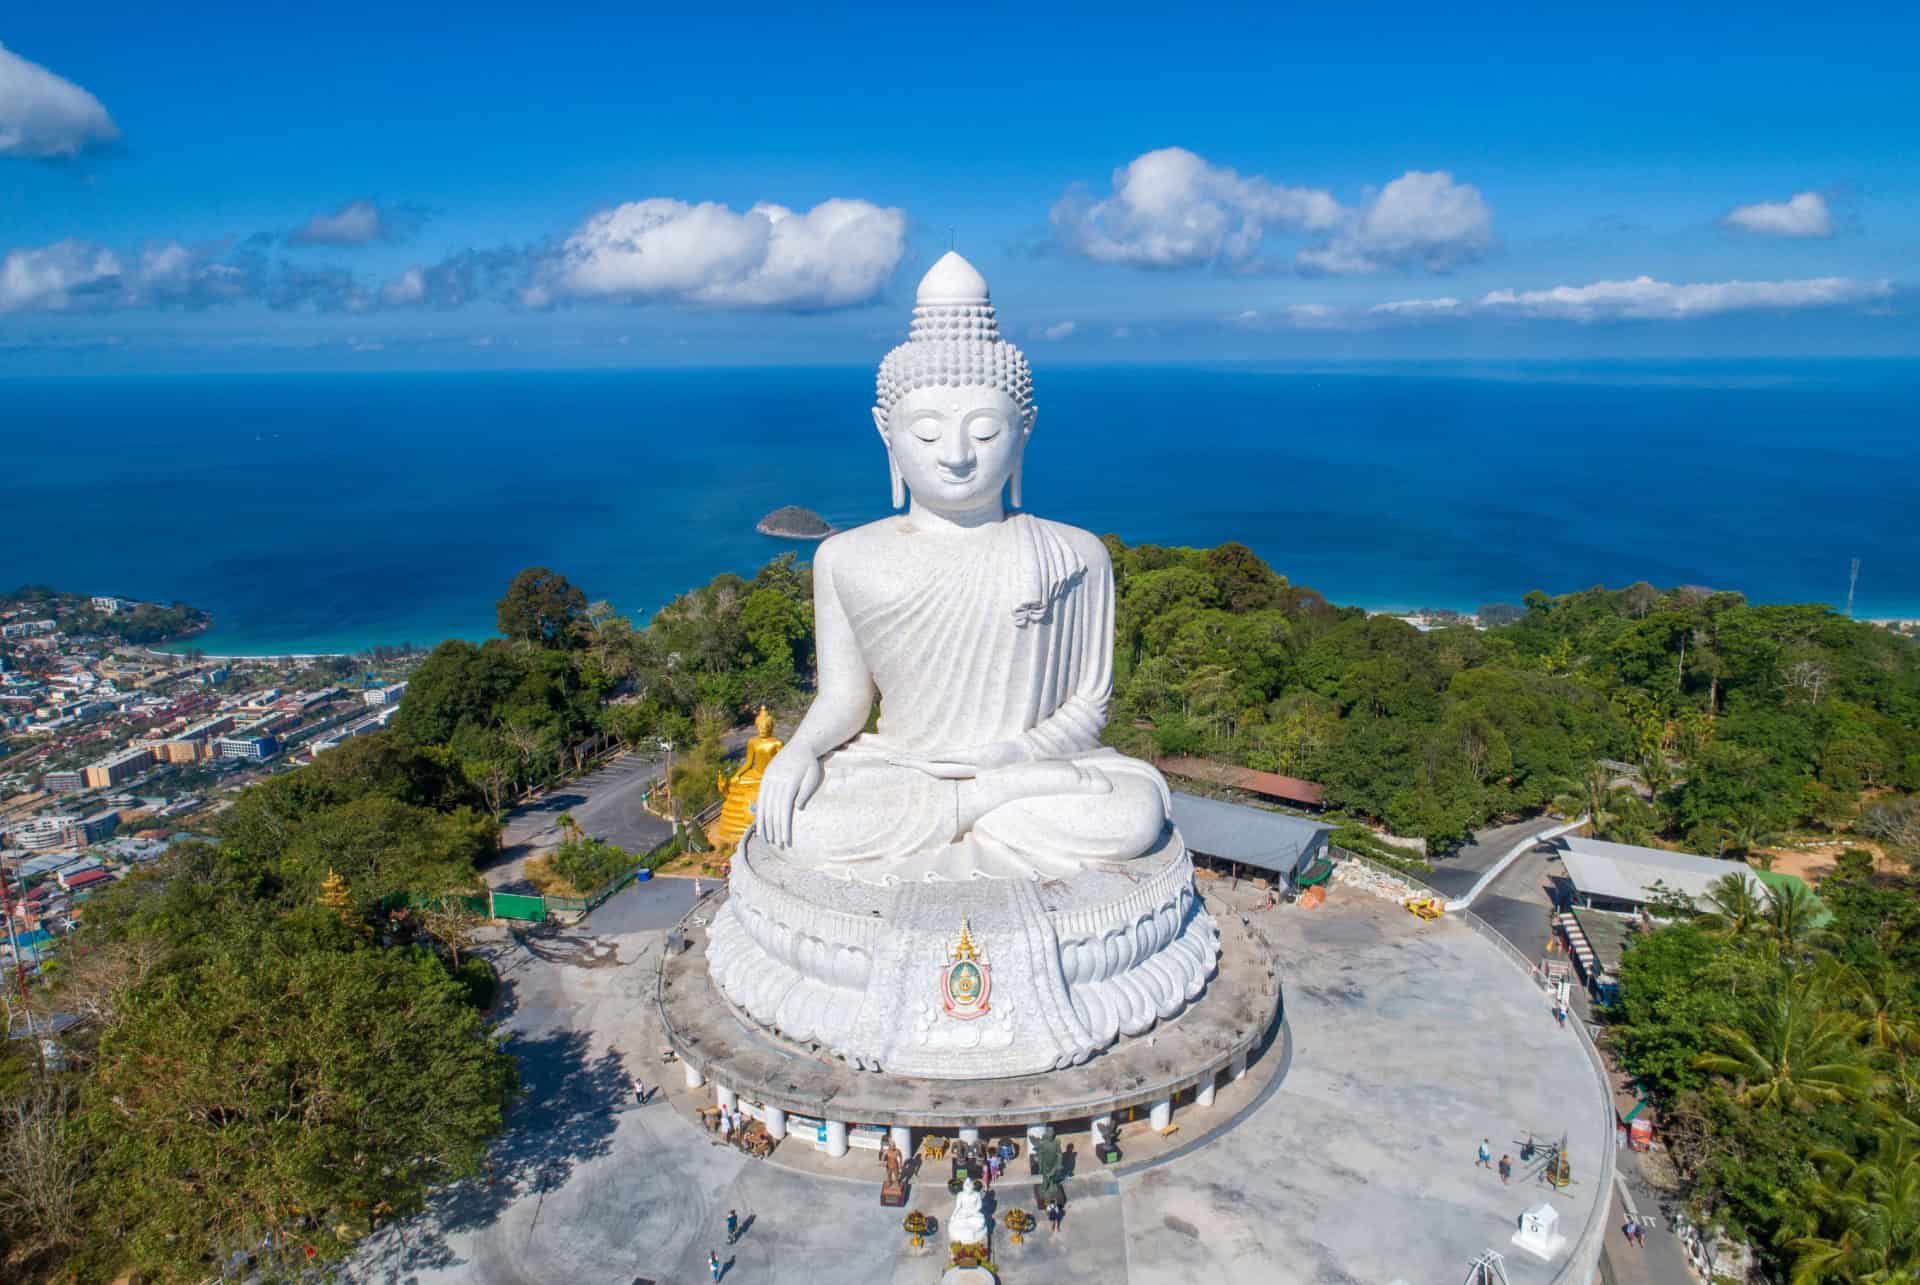
<svg viewBox="0 0 1920 1285">
<path fill-rule="evenodd" d="M 1482 311 L 1561 321 L 1690 321 L 1755 309 L 1836 307 L 1893 296 L 1889 280 L 1812 277 L 1805 280 L 1716 280 L 1676 286 L 1651 277 L 1597 280 L 1551 290 L 1494 290 Z"/>
</svg>

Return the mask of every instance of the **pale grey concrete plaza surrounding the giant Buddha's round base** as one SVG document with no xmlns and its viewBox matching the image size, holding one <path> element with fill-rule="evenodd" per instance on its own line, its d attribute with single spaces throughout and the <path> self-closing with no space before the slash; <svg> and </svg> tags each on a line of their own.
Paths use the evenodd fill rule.
<svg viewBox="0 0 1920 1285">
<path fill-rule="evenodd" d="M 1231 891 L 1208 891 L 1215 914 L 1238 914 Z M 684 1068 L 662 1062 L 655 1005 L 662 941 L 689 907 L 687 880 L 653 880 L 582 928 L 495 945 L 526 1099 L 490 1181 L 384 1227 L 344 1279 L 691 1285 L 718 1252 L 726 1281 L 939 1281 L 937 1237 L 908 1249 L 902 1210 L 879 1204 L 872 1151 L 831 1158 L 793 1131 L 755 1160 L 697 1122 L 712 1087 L 689 1089 Z M 1000 1279 L 1428 1285 L 1465 1281 L 1496 1249 L 1515 1285 L 1584 1281 L 1582 1250 L 1605 1231 L 1611 1108 L 1544 991 L 1467 924 L 1419 922 L 1356 889 L 1248 918 L 1279 957 L 1281 1037 L 1246 1076 L 1223 1078 L 1210 1106 L 1181 1101 L 1171 1135 L 1144 1112 L 1123 1124 L 1116 1170 L 1069 1135 L 1058 1233 L 1043 1224 L 1012 1245 L 1000 1214 L 1033 1206 L 1025 1179 L 1002 1179 Z M 660 1085 L 645 1106 L 634 1076 Z M 1517 1162 L 1511 1185 L 1475 1166 L 1482 1137 L 1517 1160 L 1528 1135 L 1567 1135 L 1571 1187 L 1540 1183 L 1538 1164 Z M 908 1208 L 945 1220 L 943 1179 L 929 1164 Z M 1551 1260 L 1509 1243 L 1540 1204 L 1567 1237 Z M 733 1245 L 728 1210 L 743 1224 Z"/>
</svg>

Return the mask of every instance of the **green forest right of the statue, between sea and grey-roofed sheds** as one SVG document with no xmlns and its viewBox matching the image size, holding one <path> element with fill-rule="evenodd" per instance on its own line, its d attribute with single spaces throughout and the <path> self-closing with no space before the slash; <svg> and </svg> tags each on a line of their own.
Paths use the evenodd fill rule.
<svg viewBox="0 0 1920 1285">
<path fill-rule="evenodd" d="M 1419 632 L 1334 609 L 1242 546 L 1108 544 L 1110 739 L 1317 780 L 1438 847 L 1561 799 L 1605 837 L 1747 853 L 1845 830 L 1862 791 L 1920 788 L 1920 647 L 1824 607 L 1636 584 Z"/>
</svg>

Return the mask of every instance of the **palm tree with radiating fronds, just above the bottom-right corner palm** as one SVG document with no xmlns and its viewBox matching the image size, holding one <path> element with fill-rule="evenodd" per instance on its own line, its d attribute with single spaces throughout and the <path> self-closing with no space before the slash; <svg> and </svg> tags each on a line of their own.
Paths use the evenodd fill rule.
<svg viewBox="0 0 1920 1285">
<path fill-rule="evenodd" d="M 1693 1068 L 1734 1081 L 1743 1106 L 1811 1106 L 1847 1103 L 1874 1087 L 1874 1072 L 1853 1043 L 1853 1014 L 1830 1003 L 1820 978 L 1789 982 L 1751 1030 L 1711 1024 L 1713 1053 Z"/>
</svg>

